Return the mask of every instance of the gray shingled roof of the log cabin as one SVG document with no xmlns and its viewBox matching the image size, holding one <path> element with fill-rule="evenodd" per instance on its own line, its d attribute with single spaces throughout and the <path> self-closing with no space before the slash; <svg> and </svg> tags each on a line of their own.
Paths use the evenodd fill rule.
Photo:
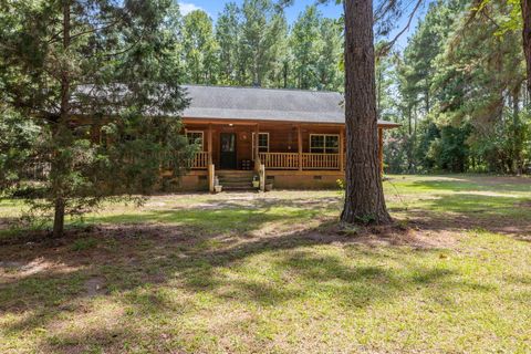
<svg viewBox="0 0 531 354">
<path fill-rule="evenodd" d="M 336 92 L 185 85 L 190 106 L 185 118 L 256 119 L 303 123 L 345 122 Z M 379 125 L 396 125 L 378 121 Z"/>
</svg>

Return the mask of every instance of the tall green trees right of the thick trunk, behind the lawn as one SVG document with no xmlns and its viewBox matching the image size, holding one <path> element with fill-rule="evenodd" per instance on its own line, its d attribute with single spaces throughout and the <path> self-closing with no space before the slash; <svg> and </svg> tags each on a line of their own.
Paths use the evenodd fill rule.
<svg viewBox="0 0 531 354">
<path fill-rule="evenodd" d="M 439 0 L 405 50 L 379 60 L 379 114 L 403 123 L 387 139 L 388 171 L 529 171 L 519 12 L 516 1 Z"/>
</svg>

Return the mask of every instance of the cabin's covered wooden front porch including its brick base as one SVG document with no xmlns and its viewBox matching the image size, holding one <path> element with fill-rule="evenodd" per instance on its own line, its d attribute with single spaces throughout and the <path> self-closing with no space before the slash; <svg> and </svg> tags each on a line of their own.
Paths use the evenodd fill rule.
<svg viewBox="0 0 531 354">
<path fill-rule="evenodd" d="M 189 143 L 199 149 L 187 177 L 191 189 L 214 191 L 217 180 L 236 183 L 228 180 L 230 176 L 249 178 L 247 185 L 258 177 L 260 188 L 274 183 L 275 188 L 305 189 L 333 188 L 344 177 L 344 124 L 198 118 L 184 123 Z M 381 168 L 384 128 L 378 125 Z"/>
</svg>

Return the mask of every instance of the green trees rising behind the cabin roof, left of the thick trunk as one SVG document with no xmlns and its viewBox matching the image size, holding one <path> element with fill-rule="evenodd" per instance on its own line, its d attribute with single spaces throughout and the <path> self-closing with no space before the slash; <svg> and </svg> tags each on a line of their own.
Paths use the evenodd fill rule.
<svg viewBox="0 0 531 354">
<path fill-rule="evenodd" d="M 341 91 L 343 23 L 308 7 L 290 27 L 271 0 L 229 2 L 216 23 L 201 11 L 179 21 L 184 82 Z"/>
</svg>

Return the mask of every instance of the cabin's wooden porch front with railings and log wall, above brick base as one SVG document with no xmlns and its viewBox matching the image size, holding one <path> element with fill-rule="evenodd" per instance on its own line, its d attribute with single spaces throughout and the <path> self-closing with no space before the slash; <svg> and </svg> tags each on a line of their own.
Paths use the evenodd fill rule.
<svg viewBox="0 0 531 354">
<path fill-rule="evenodd" d="M 344 171 L 345 132 L 340 124 L 198 122 L 185 119 L 189 143 L 199 145 L 192 169 Z M 383 166 L 383 128 L 378 127 Z"/>
</svg>

